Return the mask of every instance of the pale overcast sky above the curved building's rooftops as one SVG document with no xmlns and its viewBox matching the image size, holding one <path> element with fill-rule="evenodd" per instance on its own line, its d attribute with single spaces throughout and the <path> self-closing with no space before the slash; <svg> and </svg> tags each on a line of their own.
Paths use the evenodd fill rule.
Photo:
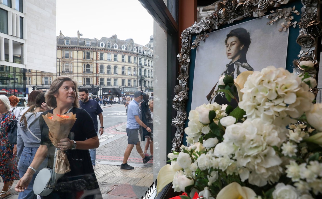
<svg viewBox="0 0 322 199">
<path fill-rule="evenodd" d="M 153 34 L 153 18 L 137 0 L 57 0 L 57 36 L 100 39 L 113 34 L 145 45 Z"/>
</svg>

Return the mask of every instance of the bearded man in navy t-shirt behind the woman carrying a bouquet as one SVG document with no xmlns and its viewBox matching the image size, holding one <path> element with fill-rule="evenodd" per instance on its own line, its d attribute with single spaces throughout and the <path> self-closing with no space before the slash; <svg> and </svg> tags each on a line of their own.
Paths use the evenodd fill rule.
<svg viewBox="0 0 322 199">
<path fill-rule="evenodd" d="M 94 121 L 96 132 L 98 131 L 97 115 L 99 115 L 99 123 L 100 123 L 99 134 L 102 135 L 104 132 L 102 108 L 100 107 L 97 101 L 89 98 L 88 90 L 86 88 L 80 88 L 79 95 L 81 99 L 80 108 L 85 109 L 90 114 L 90 116 Z M 92 159 L 92 165 L 95 170 L 96 149 L 90 149 L 90 158 Z"/>
</svg>

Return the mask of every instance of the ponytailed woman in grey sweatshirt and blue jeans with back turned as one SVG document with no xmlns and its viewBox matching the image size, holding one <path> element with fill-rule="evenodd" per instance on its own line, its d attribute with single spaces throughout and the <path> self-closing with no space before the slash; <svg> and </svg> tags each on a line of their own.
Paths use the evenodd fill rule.
<svg viewBox="0 0 322 199">
<path fill-rule="evenodd" d="M 18 170 L 20 178 L 24 176 L 30 166 L 36 151 L 40 146 L 40 126 L 39 117 L 43 111 L 49 110 L 45 103 L 45 93 L 40 93 L 36 97 L 36 103 L 28 108 L 28 110 L 18 120 L 17 132 L 17 157 L 19 158 Z M 24 192 L 20 192 L 18 199 L 36 199 L 37 196 L 33 193 L 33 182 L 38 172 L 47 167 L 48 158 L 46 158 L 38 171 L 33 175 L 33 178 Z"/>
</svg>

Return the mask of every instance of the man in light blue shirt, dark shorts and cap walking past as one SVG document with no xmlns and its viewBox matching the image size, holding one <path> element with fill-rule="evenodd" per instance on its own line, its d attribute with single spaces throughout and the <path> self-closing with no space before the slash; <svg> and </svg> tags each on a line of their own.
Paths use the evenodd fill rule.
<svg viewBox="0 0 322 199">
<path fill-rule="evenodd" d="M 142 122 L 141 111 L 139 108 L 139 102 L 142 101 L 143 93 L 141 91 L 136 91 L 134 93 L 134 100 L 128 104 L 128 123 L 126 125 L 126 134 L 128 135 L 128 146 L 124 152 L 123 164 L 121 165 L 121 169 L 134 169 L 128 165 L 128 157 L 131 154 L 131 151 L 136 146 L 137 152 L 143 158 L 143 164 L 147 163 L 152 157 L 144 155 L 140 141 L 139 141 L 139 127 L 142 126 L 148 132 L 151 132 L 151 129 Z"/>
</svg>

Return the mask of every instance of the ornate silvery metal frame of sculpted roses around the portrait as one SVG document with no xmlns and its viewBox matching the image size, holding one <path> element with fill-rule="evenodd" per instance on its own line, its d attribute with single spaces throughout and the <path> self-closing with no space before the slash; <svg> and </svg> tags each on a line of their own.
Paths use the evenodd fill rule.
<svg viewBox="0 0 322 199">
<path fill-rule="evenodd" d="M 175 86 L 175 97 L 173 98 L 173 108 L 177 110 L 176 117 L 172 120 L 172 125 L 176 127 L 175 137 L 172 140 L 172 150 L 179 151 L 183 139 L 183 129 L 185 121 L 187 120 L 186 102 L 188 99 L 188 78 L 189 78 L 189 64 L 190 64 L 190 50 L 197 48 L 200 41 L 205 41 L 208 37 L 208 32 L 216 30 L 220 25 L 225 23 L 232 23 L 235 20 L 241 20 L 246 17 L 261 17 L 264 16 L 268 10 L 274 7 L 285 5 L 289 0 L 226 0 L 218 1 L 215 4 L 215 12 L 209 14 L 199 23 L 194 23 L 181 33 L 182 48 L 177 55 L 179 59 L 180 74 L 178 76 L 179 85 Z M 293 61 L 294 72 L 297 75 L 303 73 L 304 69 L 299 67 L 299 62 L 303 60 L 311 60 L 315 67 L 306 72 L 312 77 L 316 77 L 316 68 L 318 67 L 316 58 L 317 38 L 322 33 L 322 23 L 318 21 L 317 14 L 320 0 L 301 0 L 303 7 L 301 8 L 301 18 L 299 22 L 292 21 L 294 17 L 292 14 L 299 15 L 295 7 L 276 9 L 270 11 L 267 15 L 267 25 L 273 24 L 277 20 L 284 19 L 281 23 L 279 31 L 286 31 L 287 28 L 296 25 L 299 26 L 300 31 L 296 42 L 301 46 L 298 54 L 298 59 Z M 196 34 L 195 40 L 191 43 L 192 35 Z M 313 88 L 312 92 L 317 93 L 317 89 Z"/>
</svg>

